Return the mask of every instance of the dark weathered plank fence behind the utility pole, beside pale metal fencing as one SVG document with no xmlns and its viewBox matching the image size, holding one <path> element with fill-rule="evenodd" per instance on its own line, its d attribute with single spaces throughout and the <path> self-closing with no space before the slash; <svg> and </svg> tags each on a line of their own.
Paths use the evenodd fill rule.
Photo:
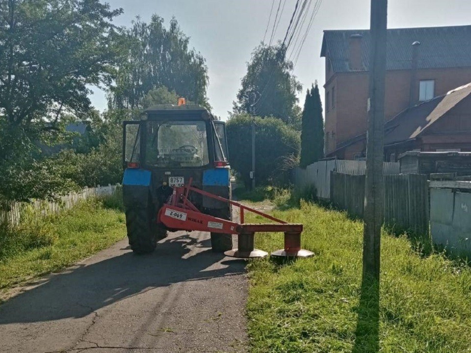
<svg viewBox="0 0 471 353">
<path fill-rule="evenodd" d="M 363 217 L 365 176 L 332 172 L 331 202 L 353 217 Z M 426 175 L 384 176 L 384 223 L 417 234 L 429 232 L 429 192 Z"/>
</svg>

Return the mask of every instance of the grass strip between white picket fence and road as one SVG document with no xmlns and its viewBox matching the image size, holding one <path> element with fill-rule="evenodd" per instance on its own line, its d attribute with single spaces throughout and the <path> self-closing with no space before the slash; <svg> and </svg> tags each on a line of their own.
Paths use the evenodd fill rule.
<svg viewBox="0 0 471 353">
<path fill-rule="evenodd" d="M 57 215 L 25 221 L 18 227 L 3 226 L 0 290 L 60 270 L 125 237 L 118 198 L 89 199 Z"/>
</svg>

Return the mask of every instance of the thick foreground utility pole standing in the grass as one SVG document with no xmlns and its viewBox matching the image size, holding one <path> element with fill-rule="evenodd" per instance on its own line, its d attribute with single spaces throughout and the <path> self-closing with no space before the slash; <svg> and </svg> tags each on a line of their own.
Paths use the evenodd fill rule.
<svg viewBox="0 0 471 353">
<path fill-rule="evenodd" d="M 371 0 L 363 277 L 379 283 L 383 224 L 384 101 L 388 0 Z"/>
</svg>

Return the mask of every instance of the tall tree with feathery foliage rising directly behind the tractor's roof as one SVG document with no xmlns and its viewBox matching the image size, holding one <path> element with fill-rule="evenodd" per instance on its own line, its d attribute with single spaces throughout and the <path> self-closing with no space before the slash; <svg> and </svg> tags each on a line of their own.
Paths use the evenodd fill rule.
<svg viewBox="0 0 471 353">
<path fill-rule="evenodd" d="M 209 107 L 209 83 L 205 58 L 189 49 L 189 37 L 175 18 L 166 28 L 163 19 L 153 15 L 149 24 L 139 18 L 126 31 L 127 57 L 118 67 L 116 84 L 109 103 L 117 108 L 141 108 L 144 96 L 160 86 Z"/>
</svg>

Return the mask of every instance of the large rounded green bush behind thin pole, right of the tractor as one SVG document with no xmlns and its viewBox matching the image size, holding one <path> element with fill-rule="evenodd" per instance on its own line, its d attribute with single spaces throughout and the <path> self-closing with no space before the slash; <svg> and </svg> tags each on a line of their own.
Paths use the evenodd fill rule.
<svg viewBox="0 0 471 353">
<path fill-rule="evenodd" d="M 286 160 L 299 153 L 299 133 L 280 119 L 235 115 L 227 123 L 229 160 L 237 176 L 250 185 L 252 169 L 252 119 L 255 121 L 256 178 L 259 185 L 285 186 L 289 182 Z"/>
</svg>

